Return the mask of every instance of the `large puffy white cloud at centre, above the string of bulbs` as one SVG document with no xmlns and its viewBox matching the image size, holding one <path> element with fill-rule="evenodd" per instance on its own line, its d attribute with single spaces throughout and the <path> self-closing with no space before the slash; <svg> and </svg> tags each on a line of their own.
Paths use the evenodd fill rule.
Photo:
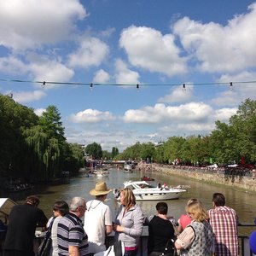
<svg viewBox="0 0 256 256">
<path fill-rule="evenodd" d="M 146 26 L 130 26 L 121 33 L 119 44 L 135 67 L 170 77 L 187 71 L 172 34 L 162 35 Z"/>
</svg>

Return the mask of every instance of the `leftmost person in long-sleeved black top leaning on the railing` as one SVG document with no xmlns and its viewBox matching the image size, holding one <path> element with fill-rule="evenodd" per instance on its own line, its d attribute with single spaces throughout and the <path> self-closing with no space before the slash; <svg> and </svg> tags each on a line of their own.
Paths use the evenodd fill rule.
<svg viewBox="0 0 256 256">
<path fill-rule="evenodd" d="M 4 256 L 33 256 L 33 241 L 37 226 L 45 227 L 47 218 L 38 208 L 36 195 L 26 197 L 24 205 L 12 207 L 4 242 Z"/>
</svg>

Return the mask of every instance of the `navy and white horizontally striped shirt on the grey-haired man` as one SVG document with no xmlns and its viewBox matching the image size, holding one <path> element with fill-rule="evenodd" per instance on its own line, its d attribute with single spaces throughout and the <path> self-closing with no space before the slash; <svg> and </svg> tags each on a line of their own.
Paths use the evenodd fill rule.
<svg viewBox="0 0 256 256">
<path fill-rule="evenodd" d="M 58 224 L 59 256 L 68 256 L 68 246 L 79 247 L 79 255 L 89 254 L 88 237 L 84 231 L 82 221 L 75 214 L 69 212 Z"/>
</svg>

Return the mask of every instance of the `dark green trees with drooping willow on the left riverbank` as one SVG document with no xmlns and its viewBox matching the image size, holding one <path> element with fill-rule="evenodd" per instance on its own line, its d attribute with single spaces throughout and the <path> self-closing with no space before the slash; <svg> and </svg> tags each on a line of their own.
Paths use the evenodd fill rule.
<svg viewBox="0 0 256 256">
<path fill-rule="evenodd" d="M 16 178 L 49 181 L 62 171 L 78 172 L 83 166 L 82 149 L 70 145 L 55 106 L 38 117 L 32 108 L 0 95 L 1 184 Z"/>
</svg>

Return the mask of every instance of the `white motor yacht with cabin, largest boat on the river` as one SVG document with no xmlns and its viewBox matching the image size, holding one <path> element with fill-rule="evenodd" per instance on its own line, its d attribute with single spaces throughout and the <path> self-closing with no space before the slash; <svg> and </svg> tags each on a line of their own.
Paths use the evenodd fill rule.
<svg viewBox="0 0 256 256">
<path fill-rule="evenodd" d="M 187 192 L 185 189 L 154 187 L 145 181 L 128 181 L 124 183 L 124 187 L 132 189 L 137 201 L 178 199 Z"/>
</svg>

